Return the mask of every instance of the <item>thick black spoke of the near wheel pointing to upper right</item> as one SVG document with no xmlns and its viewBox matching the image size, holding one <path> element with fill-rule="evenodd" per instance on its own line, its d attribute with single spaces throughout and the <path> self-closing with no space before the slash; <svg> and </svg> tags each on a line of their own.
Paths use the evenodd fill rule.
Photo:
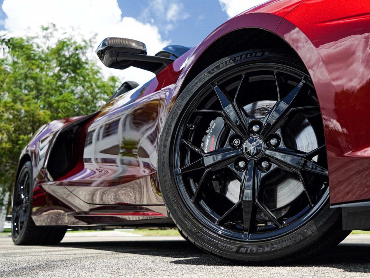
<svg viewBox="0 0 370 278">
<path fill-rule="evenodd" d="M 269 114 L 266 116 L 265 123 L 260 132 L 261 135 L 267 135 L 276 123 L 279 122 L 279 120 L 289 111 L 290 105 L 305 83 L 306 80 L 302 78 L 301 82 L 298 83 L 298 85 L 286 97 L 275 103 Z"/>
</svg>

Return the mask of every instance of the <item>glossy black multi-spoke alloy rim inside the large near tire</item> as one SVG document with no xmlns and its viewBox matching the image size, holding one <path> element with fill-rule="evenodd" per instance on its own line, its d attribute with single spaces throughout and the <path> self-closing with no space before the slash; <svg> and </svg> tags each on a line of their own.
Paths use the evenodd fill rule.
<svg viewBox="0 0 370 278">
<path fill-rule="evenodd" d="M 268 99 L 262 93 L 253 103 L 241 97 L 253 79 L 258 87 L 268 84 Z M 242 67 L 213 80 L 187 107 L 177 132 L 174 171 L 185 202 L 209 228 L 245 240 L 279 236 L 328 197 L 324 138 L 315 140 L 314 133 L 323 130 L 322 121 L 308 79 L 286 66 Z M 299 92 L 307 97 L 294 102 Z M 297 118 L 301 126 L 290 125 Z M 298 149 L 300 138 L 293 133 L 302 132 L 315 137 L 304 138 Z M 271 190 L 278 179 L 290 186 L 297 181 L 294 186 L 301 189 L 284 206 L 278 190 Z M 310 188 L 313 179 L 318 185 Z M 235 181 L 240 183 L 237 199 L 230 188 Z M 225 187 L 224 196 L 218 194 Z"/>
</svg>

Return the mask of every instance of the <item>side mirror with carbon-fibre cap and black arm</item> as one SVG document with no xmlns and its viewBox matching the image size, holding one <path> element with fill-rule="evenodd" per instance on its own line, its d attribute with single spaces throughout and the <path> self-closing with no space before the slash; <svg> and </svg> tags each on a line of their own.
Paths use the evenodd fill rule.
<svg viewBox="0 0 370 278">
<path fill-rule="evenodd" d="M 174 59 L 147 56 L 147 47 L 137 40 L 109 37 L 104 39 L 95 53 L 101 62 L 112 69 L 127 69 L 130 66 L 149 70 L 156 75 Z"/>
</svg>

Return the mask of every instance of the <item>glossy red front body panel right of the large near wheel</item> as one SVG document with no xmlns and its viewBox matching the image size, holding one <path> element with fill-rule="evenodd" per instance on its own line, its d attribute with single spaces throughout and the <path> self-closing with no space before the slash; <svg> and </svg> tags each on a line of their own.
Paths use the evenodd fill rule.
<svg viewBox="0 0 370 278">
<path fill-rule="evenodd" d="M 276 33 L 299 54 L 319 97 L 330 202 L 370 199 L 370 2 L 305 1 Z"/>
</svg>

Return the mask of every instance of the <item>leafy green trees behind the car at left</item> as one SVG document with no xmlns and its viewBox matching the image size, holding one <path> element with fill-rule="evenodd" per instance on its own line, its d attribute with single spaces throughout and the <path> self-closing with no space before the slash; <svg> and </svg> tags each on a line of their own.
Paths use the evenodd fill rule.
<svg viewBox="0 0 370 278">
<path fill-rule="evenodd" d="M 87 57 L 92 40 L 65 37 L 57 29 L 36 37 L 0 37 L 0 206 L 11 192 L 19 155 L 37 129 L 54 119 L 88 115 L 117 87 Z"/>
</svg>

